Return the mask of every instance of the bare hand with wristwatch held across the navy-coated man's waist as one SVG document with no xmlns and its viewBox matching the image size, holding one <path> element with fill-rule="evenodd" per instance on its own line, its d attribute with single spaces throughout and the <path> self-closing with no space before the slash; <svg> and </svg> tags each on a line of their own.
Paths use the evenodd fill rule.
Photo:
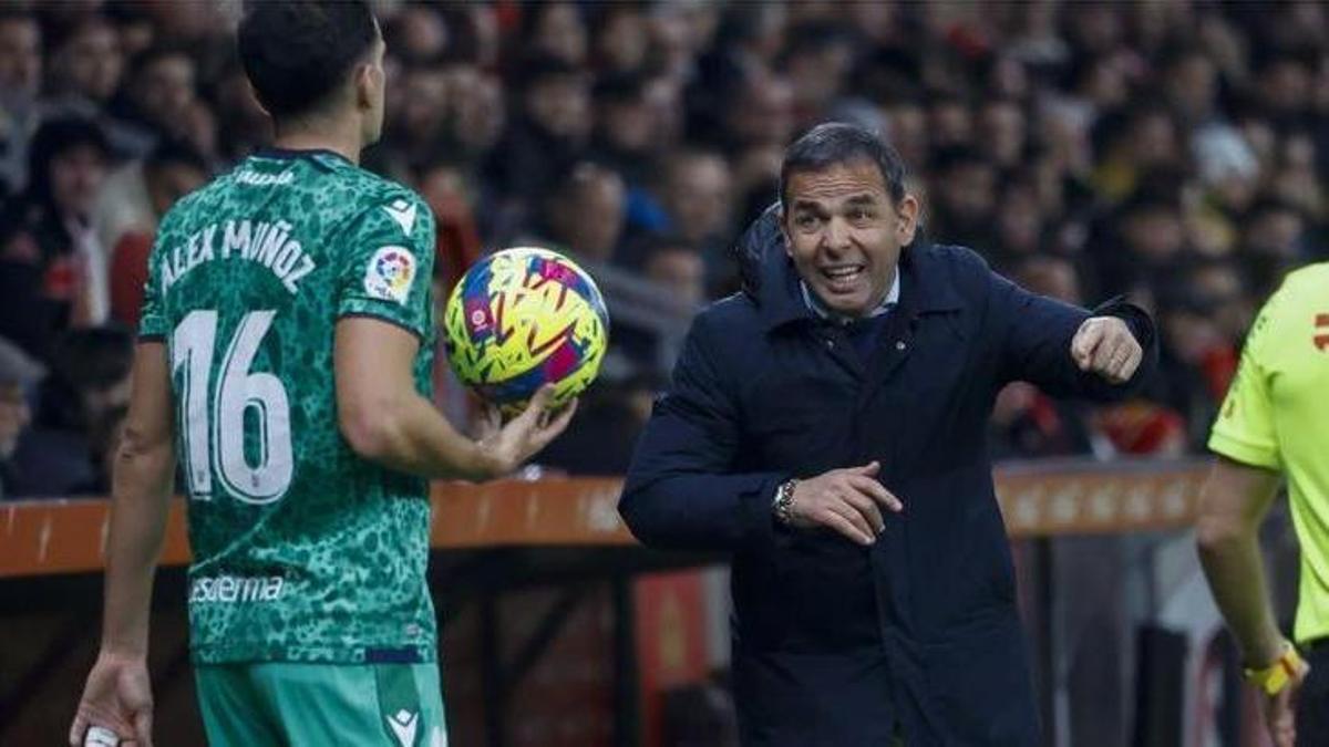
<svg viewBox="0 0 1329 747">
<path fill-rule="evenodd" d="M 870 545 L 886 528 L 882 512 L 904 509 L 878 480 L 881 465 L 832 469 L 793 486 L 789 524 L 800 529 L 825 528 L 860 545 Z"/>
</svg>

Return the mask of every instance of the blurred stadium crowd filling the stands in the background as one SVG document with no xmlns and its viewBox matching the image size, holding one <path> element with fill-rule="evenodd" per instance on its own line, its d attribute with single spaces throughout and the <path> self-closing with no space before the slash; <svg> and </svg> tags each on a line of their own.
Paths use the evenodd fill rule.
<svg viewBox="0 0 1329 747">
<path fill-rule="evenodd" d="M 1159 319 L 1143 399 L 998 397 L 999 457 L 1200 449 L 1252 310 L 1329 257 L 1329 7 L 1155 3 L 379 4 L 364 165 L 439 218 L 437 287 L 541 243 L 688 304 L 812 124 L 885 133 L 925 241 Z M 158 218 L 260 146 L 238 4 L 0 4 L 0 497 L 104 493 Z M 443 294 L 440 292 L 440 298 Z M 610 310 L 613 312 L 613 308 Z M 542 459 L 618 472 L 664 372 L 611 352 Z"/>
</svg>

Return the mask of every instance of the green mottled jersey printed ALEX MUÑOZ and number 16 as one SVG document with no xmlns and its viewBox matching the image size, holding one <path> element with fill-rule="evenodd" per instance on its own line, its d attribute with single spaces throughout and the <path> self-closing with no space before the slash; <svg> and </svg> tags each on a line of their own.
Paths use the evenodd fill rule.
<svg viewBox="0 0 1329 747">
<path fill-rule="evenodd" d="M 264 152 L 182 199 L 149 261 L 189 492 L 194 659 L 432 661 L 428 484 L 338 428 L 334 328 L 372 316 L 433 358 L 433 218 L 328 152 Z"/>
</svg>

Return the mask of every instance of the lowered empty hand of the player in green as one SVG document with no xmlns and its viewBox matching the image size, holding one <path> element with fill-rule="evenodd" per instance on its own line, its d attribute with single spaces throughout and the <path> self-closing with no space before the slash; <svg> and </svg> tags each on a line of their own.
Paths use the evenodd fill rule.
<svg viewBox="0 0 1329 747">
<path fill-rule="evenodd" d="M 153 691 L 144 657 L 106 651 L 97 657 L 69 727 L 69 744 L 82 747 L 94 726 L 116 732 L 122 747 L 152 747 Z"/>
</svg>

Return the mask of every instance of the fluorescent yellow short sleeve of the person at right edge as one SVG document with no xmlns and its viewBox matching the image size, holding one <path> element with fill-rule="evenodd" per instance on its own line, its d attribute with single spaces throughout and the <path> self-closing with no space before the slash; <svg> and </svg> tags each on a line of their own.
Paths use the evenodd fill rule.
<svg viewBox="0 0 1329 747">
<path fill-rule="evenodd" d="M 1269 469 L 1280 469 L 1282 465 L 1269 397 L 1269 375 L 1264 362 L 1276 308 L 1277 296 L 1265 304 L 1256 319 L 1241 351 L 1237 375 L 1228 388 L 1223 409 L 1219 411 L 1213 431 L 1209 433 L 1209 449 L 1215 453 L 1241 464 Z"/>
</svg>

